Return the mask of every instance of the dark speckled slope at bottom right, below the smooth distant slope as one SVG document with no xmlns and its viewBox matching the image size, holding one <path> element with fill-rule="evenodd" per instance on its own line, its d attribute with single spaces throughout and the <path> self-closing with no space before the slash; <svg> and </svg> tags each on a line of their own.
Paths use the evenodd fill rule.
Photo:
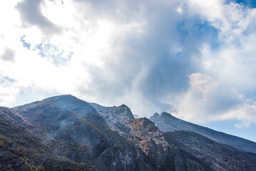
<svg viewBox="0 0 256 171">
<path fill-rule="evenodd" d="M 181 156 L 193 155 L 213 170 L 255 170 L 254 153 L 237 150 L 194 132 L 173 131 L 163 135 L 167 142 L 178 147 Z"/>
</svg>

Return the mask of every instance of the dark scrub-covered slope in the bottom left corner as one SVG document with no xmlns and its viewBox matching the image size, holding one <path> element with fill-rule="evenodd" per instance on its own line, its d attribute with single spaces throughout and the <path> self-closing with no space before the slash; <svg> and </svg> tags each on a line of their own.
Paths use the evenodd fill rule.
<svg viewBox="0 0 256 171">
<path fill-rule="evenodd" d="M 58 155 L 57 145 L 31 133 L 32 126 L 15 110 L 0 108 L 0 170 L 98 170 Z"/>
</svg>

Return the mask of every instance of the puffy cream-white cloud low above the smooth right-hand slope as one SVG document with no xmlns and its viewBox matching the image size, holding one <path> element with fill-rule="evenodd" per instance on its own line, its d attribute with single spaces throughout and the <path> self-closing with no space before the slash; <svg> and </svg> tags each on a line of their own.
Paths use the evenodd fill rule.
<svg viewBox="0 0 256 171">
<path fill-rule="evenodd" d="M 193 73 L 189 78 L 190 89 L 181 97 L 175 115 L 197 123 L 240 120 L 239 127 L 256 123 L 255 100 L 246 98 L 234 87 L 217 83 L 208 75 Z"/>
</svg>

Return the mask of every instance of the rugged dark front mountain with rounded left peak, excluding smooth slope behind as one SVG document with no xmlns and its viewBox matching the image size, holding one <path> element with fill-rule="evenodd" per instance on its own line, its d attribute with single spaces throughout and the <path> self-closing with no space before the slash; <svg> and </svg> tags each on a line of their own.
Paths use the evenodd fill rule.
<svg viewBox="0 0 256 171">
<path fill-rule="evenodd" d="M 59 95 L 0 108 L 0 170 L 256 170 L 256 154 Z"/>
</svg>

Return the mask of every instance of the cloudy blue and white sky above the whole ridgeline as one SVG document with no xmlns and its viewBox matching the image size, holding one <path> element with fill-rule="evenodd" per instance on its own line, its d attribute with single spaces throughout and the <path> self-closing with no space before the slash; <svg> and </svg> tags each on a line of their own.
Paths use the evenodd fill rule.
<svg viewBox="0 0 256 171">
<path fill-rule="evenodd" d="M 256 141 L 253 0 L 0 1 L 0 105 L 126 104 Z"/>
</svg>

